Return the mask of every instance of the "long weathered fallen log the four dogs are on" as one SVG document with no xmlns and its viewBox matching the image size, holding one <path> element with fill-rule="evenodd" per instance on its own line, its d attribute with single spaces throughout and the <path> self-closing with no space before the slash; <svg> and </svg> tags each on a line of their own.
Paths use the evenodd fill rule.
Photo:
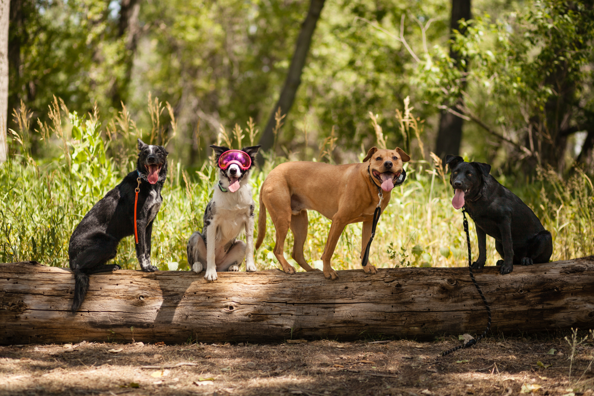
<svg viewBox="0 0 594 396">
<path fill-rule="evenodd" d="M 481 332 L 484 305 L 467 268 L 219 273 L 208 283 L 185 271 L 116 271 L 90 276 L 72 314 L 68 268 L 0 264 L 0 343 L 353 340 L 383 334 L 433 340 Z M 475 271 L 494 332 L 594 328 L 594 256 Z"/>
</svg>

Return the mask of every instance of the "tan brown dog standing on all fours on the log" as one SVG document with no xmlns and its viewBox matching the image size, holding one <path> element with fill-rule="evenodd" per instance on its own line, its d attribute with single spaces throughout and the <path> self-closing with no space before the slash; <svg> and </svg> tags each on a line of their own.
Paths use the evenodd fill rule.
<svg viewBox="0 0 594 396">
<path fill-rule="evenodd" d="M 324 276 L 336 279 L 338 275 L 330 266 L 336 243 L 347 224 L 363 221 L 361 256 L 371 237 L 371 223 L 378 193 L 383 190 L 381 210 L 390 202 L 390 191 L 400 185 L 406 172 L 403 162 L 410 160 L 399 147 L 378 150 L 372 147 L 362 163 L 331 165 L 320 162 L 286 162 L 274 168 L 260 189 L 260 215 L 258 240 L 260 247 L 266 234 L 266 210 L 276 227 L 274 255 L 287 274 L 295 268 L 283 255 L 285 237 L 289 228 L 295 237 L 292 258 L 305 271 L 315 271 L 305 261 L 303 245 L 307 238 L 307 210 L 315 210 L 330 218 L 332 226 L 322 254 Z M 402 178 L 400 177 L 402 175 Z M 375 274 L 371 264 L 363 267 L 365 273 Z"/>
</svg>

